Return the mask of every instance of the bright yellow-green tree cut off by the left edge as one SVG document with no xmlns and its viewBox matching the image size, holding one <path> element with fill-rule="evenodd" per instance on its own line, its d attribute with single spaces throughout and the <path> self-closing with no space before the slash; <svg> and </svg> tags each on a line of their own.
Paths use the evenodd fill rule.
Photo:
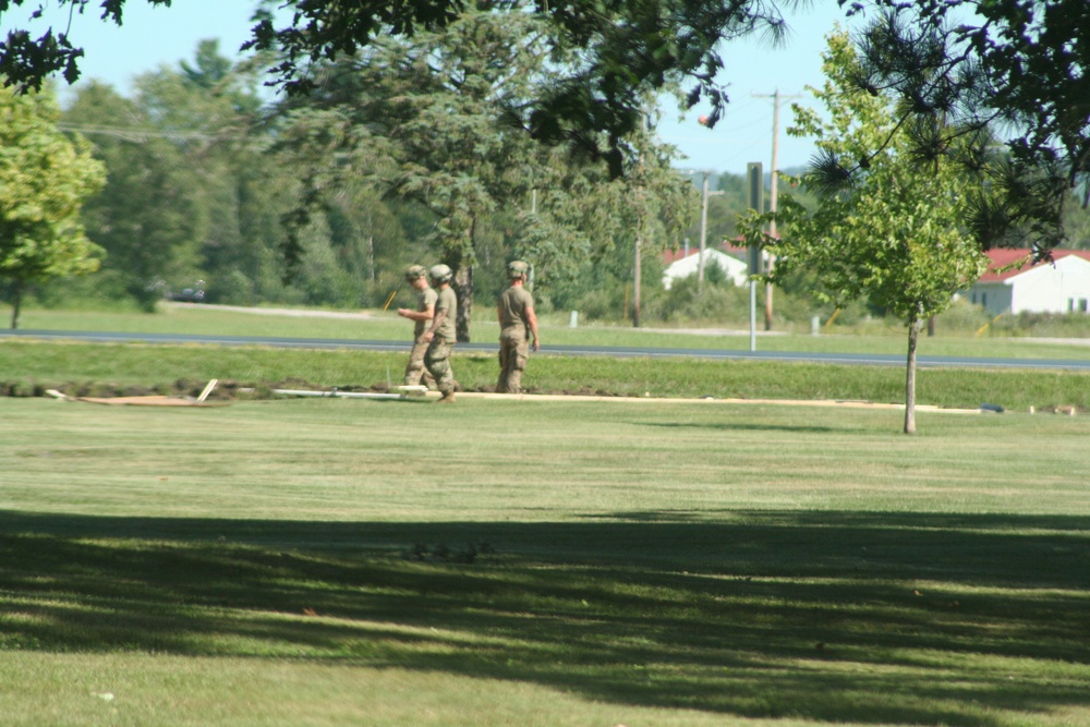
<svg viewBox="0 0 1090 727">
<path fill-rule="evenodd" d="M 48 93 L 0 89 L 0 276 L 14 282 L 12 328 L 28 283 L 93 272 L 102 253 L 80 208 L 105 169 L 86 141 L 57 129 L 58 114 Z"/>
</svg>

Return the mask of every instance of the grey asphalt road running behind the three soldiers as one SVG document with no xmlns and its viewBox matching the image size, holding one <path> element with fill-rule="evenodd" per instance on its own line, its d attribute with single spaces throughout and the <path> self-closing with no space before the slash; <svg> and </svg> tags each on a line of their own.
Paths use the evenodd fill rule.
<svg viewBox="0 0 1090 727">
<path fill-rule="evenodd" d="M 206 346 L 266 346 L 294 349 L 356 349 L 361 351 L 408 351 L 409 341 L 355 341 L 328 338 L 271 338 L 249 336 L 202 336 L 181 334 L 125 334 L 107 331 L 0 330 L 0 340 L 78 340 L 88 342 L 203 343 Z M 496 343 L 459 343 L 459 351 L 495 353 Z M 800 353 L 792 351 L 746 351 L 713 349 L 614 348 L 596 346 L 543 346 L 540 354 L 618 358 L 691 358 L 749 361 L 799 361 L 813 363 L 904 366 L 904 354 L 881 353 Z M 962 356 L 924 356 L 921 367 L 950 368 L 1041 368 L 1090 371 L 1090 358 L 1076 359 L 970 359 Z"/>
</svg>

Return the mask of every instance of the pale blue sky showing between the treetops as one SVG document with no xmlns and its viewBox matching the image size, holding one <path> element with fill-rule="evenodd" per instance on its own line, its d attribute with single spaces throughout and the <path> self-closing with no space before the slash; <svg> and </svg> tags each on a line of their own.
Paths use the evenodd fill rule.
<svg viewBox="0 0 1090 727">
<path fill-rule="evenodd" d="M 38 4 L 38 0 L 24 2 Z M 36 25 L 27 24 L 31 10 L 25 7 L 0 14 L 0 34 L 5 36 L 10 27 L 32 33 L 50 24 L 56 29 L 69 27 L 69 10 L 59 9 L 57 0 L 45 2 L 47 15 Z M 83 47 L 86 53 L 81 61 L 82 80 L 104 81 L 128 94 L 136 75 L 162 65 L 177 68 L 180 61 L 192 60 L 197 43 L 208 38 L 219 39 L 220 52 L 231 57 L 250 38 L 254 4 L 250 0 L 173 0 L 170 8 L 154 8 L 142 0 L 129 0 L 121 27 L 99 20 L 98 10 L 89 8 L 84 15 L 72 17 L 69 27 L 73 44 Z M 697 121 L 706 108 L 694 108 L 679 120 L 680 110 L 673 100 L 665 102 L 658 134 L 686 156 L 678 160 L 678 167 L 744 174 L 747 163 L 760 161 L 765 172 L 771 170 L 775 108 L 772 97 L 777 90 L 780 95 L 778 167 L 791 169 L 810 160 L 812 143 L 786 134 L 791 121 L 790 105 L 809 102 L 811 97 L 806 87 L 822 84 L 825 36 L 837 22 L 844 25 L 845 20 L 836 0 L 812 0 L 809 7 L 786 16 L 790 33 L 784 46 L 750 39 L 724 49 L 725 69 L 719 81 L 726 85 L 730 104 L 715 129 L 706 129 Z"/>
</svg>

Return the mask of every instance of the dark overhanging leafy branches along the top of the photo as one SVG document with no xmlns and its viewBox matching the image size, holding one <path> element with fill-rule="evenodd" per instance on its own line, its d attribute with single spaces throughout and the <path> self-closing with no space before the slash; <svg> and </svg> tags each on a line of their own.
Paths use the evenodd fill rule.
<svg viewBox="0 0 1090 727">
<path fill-rule="evenodd" d="M 83 11 L 90 0 L 58 0 Z M 170 4 L 170 0 L 147 0 Z M 8 0 L 8 4 L 43 0 Z M 970 171 L 992 142 L 977 135 L 992 121 L 1014 129 L 1013 163 L 996 170 L 1005 189 L 978 205 L 971 228 L 984 244 L 1029 240 L 1045 252 L 1062 240 L 1069 186 L 1090 165 L 1090 4 L 1085 0 L 838 0 L 848 14 L 877 11 L 863 43 L 864 61 L 853 85 L 870 93 L 892 89 L 903 118 L 915 118 L 913 153 L 937 158 L 960 149 Z M 102 19 L 121 23 L 126 0 L 101 0 Z M 785 5 L 798 4 L 783 0 Z M 290 21 L 277 25 L 280 8 L 265 0 L 255 15 L 250 47 L 277 51 L 271 72 L 289 90 L 308 92 L 315 62 L 351 57 L 376 39 L 411 37 L 447 27 L 479 9 L 524 14 L 521 0 L 470 4 L 462 0 L 400 3 L 389 0 L 289 0 Z M 553 50 L 571 62 L 555 83 L 512 108 L 512 118 L 534 138 L 564 144 L 606 159 L 619 174 L 640 126 L 644 94 L 691 84 L 686 105 L 713 105 L 710 122 L 728 97 L 717 84 L 726 43 L 762 34 L 782 39 L 785 23 L 772 0 L 537 0 L 532 10 L 552 26 Z M 2 11 L 0 11 L 2 12 Z M 78 78 L 83 53 L 66 32 L 37 38 L 11 28 L 0 46 L 0 76 L 20 88 L 40 87 L 50 73 Z M 603 137 L 604 135 L 604 137 Z M 966 143 L 972 136 L 973 143 Z M 954 144 L 955 137 L 962 141 Z M 884 146 L 877 143 L 875 149 Z M 865 169 L 875 149 L 859 159 L 827 157 L 818 166 L 824 184 L 836 185 Z"/>
</svg>

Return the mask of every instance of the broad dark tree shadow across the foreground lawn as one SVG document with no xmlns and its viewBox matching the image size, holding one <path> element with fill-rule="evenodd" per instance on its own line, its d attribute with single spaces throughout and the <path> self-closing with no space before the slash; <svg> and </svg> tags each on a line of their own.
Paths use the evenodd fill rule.
<svg viewBox="0 0 1090 727">
<path fill-rule="evenodd" d="M 1086 518 L 0 512 L 0 532 L 3 650 L 303 657 L 869 724 L 1086 704 Z"/>
</svg>

